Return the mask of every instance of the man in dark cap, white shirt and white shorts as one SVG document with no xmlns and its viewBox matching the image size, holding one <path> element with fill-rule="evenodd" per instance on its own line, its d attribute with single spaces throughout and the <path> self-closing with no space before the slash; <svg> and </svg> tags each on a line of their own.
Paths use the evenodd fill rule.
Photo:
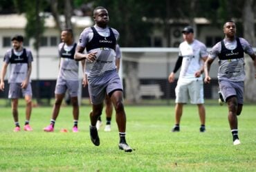
<svg viewBox="0 0 256 172">
<path fill-rule="evenodd" d="M 174 74 L 181 67 L 179 80 L 175 88 L 175 125 L 172 132 L 180 131 L 180 122 L 183 105 L 190 102 L 196 104 L 201 122 L 200 132 L 205 131 L 205 107 L 203 105 L 203 61 L 208 56 L 207 49 L 203 43 L 194 39 L 194 30 L 187 26 L 182 30 L 183 43 L 179 45 L 179 58 L 176 61 L 173 72 L 168 80 L 174 82 Z"/>
</svg>

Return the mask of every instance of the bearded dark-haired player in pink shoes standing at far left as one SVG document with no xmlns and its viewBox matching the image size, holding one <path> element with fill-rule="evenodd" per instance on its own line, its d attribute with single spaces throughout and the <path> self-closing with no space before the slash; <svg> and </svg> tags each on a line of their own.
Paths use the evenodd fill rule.
<svg viewBox="0 0 256 172">
<path fill-rule="evenodd" d="M 10 64 L 10 76 L 8 79 L 9 94 L 8 98 L 12 103 L 12 116 L 15 121 L 15 132 L 20 131 L 19 126 L 19 94 L 22 92 L 24 99 L 26 100 L 26 122 L 24 126 L 25 131 L 33 131 L 29 125 L 31 111 L 32 111 L 32 89 L 30 74 L 32 71 L 33 56 L 30 50 L 23 47 L 24 37 L 16 35 L 12 38 L 12 49 L 6 52 L 3 58 L 3 68 L 1 70 L 1 83 L 0 89 L 4 91 L 4 78 L 6 76 L 8 65 Z"/>
</svg>

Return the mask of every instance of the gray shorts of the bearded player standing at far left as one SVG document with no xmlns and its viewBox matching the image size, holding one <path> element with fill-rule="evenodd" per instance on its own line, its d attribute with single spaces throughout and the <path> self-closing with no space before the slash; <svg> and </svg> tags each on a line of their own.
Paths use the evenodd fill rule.
<svg viewBox="0 0 256 172">
<path fill-rule="evenodd" d="M 25 89 L 21 89 L 21 83 L 10 83 L 8 98 L 19 98 L 21 92 L 22 96 L 32 97 L 31 84 L 28 83 L 28 87 L 26 87 Z"/>
</svg>

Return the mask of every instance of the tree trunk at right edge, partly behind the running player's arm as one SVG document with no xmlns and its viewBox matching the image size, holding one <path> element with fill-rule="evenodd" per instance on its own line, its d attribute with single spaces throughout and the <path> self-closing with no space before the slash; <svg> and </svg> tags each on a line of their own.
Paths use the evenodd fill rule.
<svg viewBox="0 0 256 172">
<path fill-rule="evenodd" d="M 244 1 L 244 39 L 246 39 L 252 46 L 255 46 L 255 27 L 254 27 L 254 1 L 245 0 Z M 246 56 L 246 80 L 244 81 L 244 98 L 248 101 L 256 101 L 256 82 L 254 75 L 254 65 L 250 57 Z"/>
</svg>

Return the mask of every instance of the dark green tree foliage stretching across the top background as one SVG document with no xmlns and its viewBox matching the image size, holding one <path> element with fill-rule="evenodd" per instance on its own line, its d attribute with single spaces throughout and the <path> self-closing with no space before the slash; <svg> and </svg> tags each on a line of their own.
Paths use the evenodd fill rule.
<svg viewBox="0 0 256 172">
<path fill-rule="evenodd" d="M 49 0 L 40 1 L 40 12 L 51 12 Z M 58 0 L 58 10 L 63 14 L 64 1 Z M 35 36 L 35 30 L 39 28 L 39 34 L 43 33 L 44 20 L 40 18 L 40 24 L 36 22 L 35 1 L 30 0 L 2 0 L 1 12 L 26 13 L 28 25 L 26 32 L 29 37 Z M 230 19 L 241 19 L 244 1 L 239 0 L 74 0 L 72 6 L 79 8 L 82 4 L 93 4 L 93 7 L 104 6 L 109 11 L 109 25 L 120 32 L 119 43 L 122 47 L 149 46 L 149 40 L 154 30 L 163 32 L 167 37 L 167 23 L 172 19 L 185 19 L 190 22 L 194 17 L 205 17 L 218 28 Z M 193 5 L 194 4 L 194 5 Z M 15 6 L 15 8 L 13 8 Z M 92 9 L 93 10 L 93 9 Z M 147 19 L 146 22 L 143 19 Z M 188 23 L 185 23 L 188 24 Z M 242 36 L 242 22 L 237 23 L 237 35 Z"/>
</svg>

